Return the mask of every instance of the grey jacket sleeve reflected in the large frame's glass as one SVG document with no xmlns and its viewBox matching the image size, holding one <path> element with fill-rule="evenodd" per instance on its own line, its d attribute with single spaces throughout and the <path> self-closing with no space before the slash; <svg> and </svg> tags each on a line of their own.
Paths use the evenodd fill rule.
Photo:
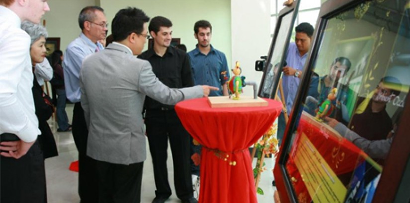
<svg viewBox="0 0 410 203">
<path fill-rule="evenodd" d="M 393 136 L 389 139 L 370 141 L 351 131 L 341 123 L 338 123 L 334 129 L 340 133 L 341 136 L 363 150 L 363 152 L 366 152 L 371 158 L 385 159 L 390 151 L 390 146 L 394 138 Z"/>
</svg>

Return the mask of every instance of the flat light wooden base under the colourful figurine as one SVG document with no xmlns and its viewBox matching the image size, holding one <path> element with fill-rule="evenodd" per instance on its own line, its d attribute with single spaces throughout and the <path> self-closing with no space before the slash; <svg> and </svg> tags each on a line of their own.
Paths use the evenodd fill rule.
<svg viewBox="0 0 410 203">
<path fill-rule="evenodd" d="M 212 108 L 221 107 L 248 107 L 248 106 L 267 106 L 268 102 L 262 98 L 253 99 L 253 97 L 241 96 L 239 100 L 224 97 L 208 97 L 208 102 Z"/>
</svg>

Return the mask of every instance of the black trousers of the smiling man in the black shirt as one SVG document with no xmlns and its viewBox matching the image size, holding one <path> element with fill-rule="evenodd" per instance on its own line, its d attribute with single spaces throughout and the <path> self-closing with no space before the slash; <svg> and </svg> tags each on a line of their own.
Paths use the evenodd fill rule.
<svg viewBox="0 0 410 203">
<path fill-rule="evenodd" d="M 169 138 L 176 196 L 181 200 L 193 197 L 189 162 L 190 135 L 182 126 L 175 110 L 147 110 L 145 124 L 154 167 L 156 196 L 168 198 L 171 195 L 166 168 Z"/>
</svg>

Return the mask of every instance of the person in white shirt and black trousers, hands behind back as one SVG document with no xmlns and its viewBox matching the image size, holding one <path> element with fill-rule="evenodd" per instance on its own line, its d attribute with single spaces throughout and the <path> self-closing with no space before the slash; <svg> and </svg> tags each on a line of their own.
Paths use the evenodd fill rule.
<svg viewBox="0 0 410 203">
<path fill-rule="evenodd" d="M 24 20 L 39 23 L 46 0 L 0 0 L 0 202 L 45 202 L 44 162 L 31 87 L 30 36 Z M 40 177 L 38 177 L 40 176 Z"/>
</svg>

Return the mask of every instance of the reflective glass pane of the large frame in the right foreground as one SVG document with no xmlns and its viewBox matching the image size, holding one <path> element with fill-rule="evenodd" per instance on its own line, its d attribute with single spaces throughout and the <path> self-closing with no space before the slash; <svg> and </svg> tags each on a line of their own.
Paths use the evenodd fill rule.
<svg viewBox="0 0 410 203">
<path fill-rule="evenodd" d="M 372 200 L 409 92 L 408 14 L 404 1 L 366 2 L 320 31 L 316 75 L 286 149 L 304 202 Z"/>
</svg>

